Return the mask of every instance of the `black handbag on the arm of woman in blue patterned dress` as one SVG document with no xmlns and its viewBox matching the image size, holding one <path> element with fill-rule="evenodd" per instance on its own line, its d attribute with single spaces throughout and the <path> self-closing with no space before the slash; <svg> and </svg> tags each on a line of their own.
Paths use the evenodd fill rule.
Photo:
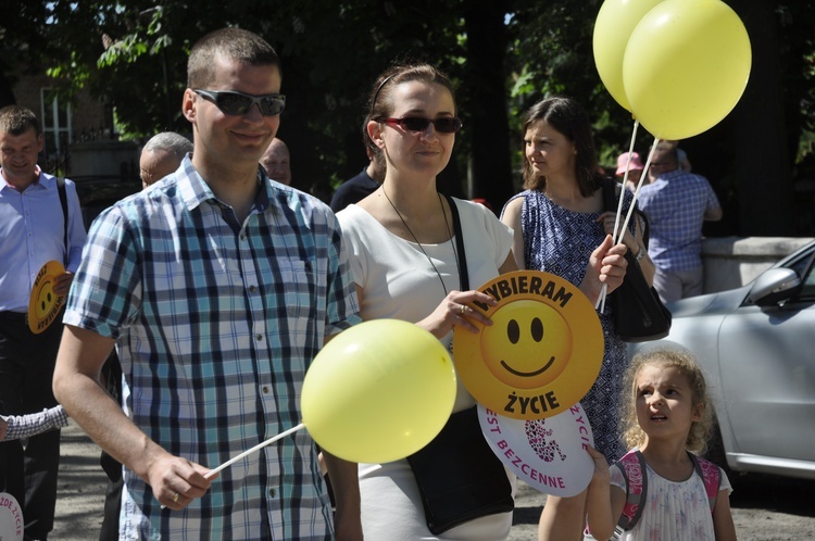
<svg viewBox="0 0 815 541">
<path fill-rule="evenodd" d="M 610 178 L 603 184 L 603 199 L 607 211 L 617 211 L 616 184 Z M 648 216 L 635 211 L 635 218 L 637 216 L 642 219 L 642 240 L 648 248 Z M 670 312 L 660 300 L 656 290 L 645 281 L 645 276 L 630 250 L 626 252 L 625 257 L 628 262 L 626 276 L 623 284 L 611 293 L 617 335 L 626 342 L 647 342 L 665 338 L 670 330 Z"/>
</svg>

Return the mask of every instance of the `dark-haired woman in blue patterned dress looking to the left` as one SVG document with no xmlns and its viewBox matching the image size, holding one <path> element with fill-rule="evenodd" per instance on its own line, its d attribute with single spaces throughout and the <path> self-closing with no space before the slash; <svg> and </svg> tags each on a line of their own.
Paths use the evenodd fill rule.
<svg viewBox="0 0 815 541">
<path fill-rule="evenodd" d="M 582 287 L 590 279 L 589 256 L 612 232 L 616 217 L 613 212 L 604 212 L 603 176 L 588 116 L 569 98 L 546 99 L 524 114 L 523 134 L 526 190 L 506 203 L 501 217 L 515 231 L 513 253 L 521 268 L 555 274 L 586 292 L 591 289 Z M 625 213 L 632 196 L 623 191 Z M 652 281 L 654 266 L 642 243 L 641 224 L 632 221 L 623 242 L 637 257 L 647 280 Z M 600 294 L 599 288 L 594 289 L 592 303 Z M 599 315 L 605 353 L 600 375 L 581 404 L 591 423 L 594 448 L 609 461 L 616 461 L 625 453 L 617 430 L 617 398 L 627 366 L 626 345 L 615 331 L 610 303 Z M 573 498 L 548 496 L 539 539 L 581 539 L 585 506 L 586 491 Z"/>
</svg>

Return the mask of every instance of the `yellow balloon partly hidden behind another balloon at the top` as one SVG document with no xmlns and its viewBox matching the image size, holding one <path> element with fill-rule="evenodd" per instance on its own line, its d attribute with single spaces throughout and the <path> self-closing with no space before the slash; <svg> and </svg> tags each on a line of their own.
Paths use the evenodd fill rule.
<svg viewBox="0 0 815 541">
<path fill-rule="evenodd" d="M 594 21 L 594 65 L 605 89 L 630 111 L 623 87 L 623 58 L 628 38 L 645 13 L 662 0 L 605 0 Z"/>
</svg>

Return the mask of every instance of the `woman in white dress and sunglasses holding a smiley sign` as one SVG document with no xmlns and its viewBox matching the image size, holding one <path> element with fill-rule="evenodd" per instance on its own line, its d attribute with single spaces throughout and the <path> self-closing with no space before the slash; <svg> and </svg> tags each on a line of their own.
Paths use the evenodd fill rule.
<svg viewBox="0 0 815 541">
<path fill-rule="evenodd" d="M 379 189 L 337 215 L 361 316 L 416 323 L 450 348 L 454 326 L 477 332 L 474 322 L 489 325 L 471 307 L 474 302 L 494 305 L 485 293 L 462 291 L 460 257 L 464 254 L 456 249 L 450 202 L 461 217 L 467 274 L 474 288 L 517 268 L 511 251 L 512 230 L 486 206 L 457 199 L 449 202 L 437 191 L 436 176 L 450 161 L 461 128 L 453 86 L 444 74 L 427 64 L 393 66 L 379 76 L 368 102 L 367 135 L 381 149 L 387 173 Z M 600 255 L 598 252 L 594 262 L 598 280 L 603 263 L 607 273 L 622 259 L 603 261 Z M 475 400 L 460 383 L 453 412 L 474 405 Z M 431 533 L 413 471 L 404 460 L 360 464 L 359 473 L 366 541 L 500 541 L 509 536 L 512 512 Z M 514 476 L 504 473 L 514 492 Z M 478 474 L 472 471 L 471 476 Z"/>
</svg>

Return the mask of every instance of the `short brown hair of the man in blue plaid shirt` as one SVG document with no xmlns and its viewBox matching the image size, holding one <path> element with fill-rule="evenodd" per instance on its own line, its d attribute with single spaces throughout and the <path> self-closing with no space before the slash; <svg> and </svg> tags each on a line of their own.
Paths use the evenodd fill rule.
<svg viewBox="0 0 815 541">
<path fill-rule="evenodd" d="M 187 62 L 187 88 L 205 89 L 212 83 L 218 54 L 244 65 L 274 65 L 280 68 L 280 59 L 263 38 L 241 28 L 222 28 L 211 32 L 192 46 Z"/>
</svg>

